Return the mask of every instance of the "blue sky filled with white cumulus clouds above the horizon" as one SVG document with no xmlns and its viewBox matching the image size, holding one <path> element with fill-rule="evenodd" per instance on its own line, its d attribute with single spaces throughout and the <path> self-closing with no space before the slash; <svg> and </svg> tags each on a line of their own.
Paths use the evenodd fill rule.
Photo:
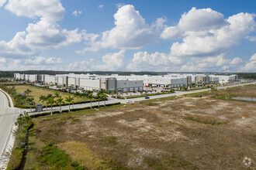
<svg viewBox="0 0 256 170">
<path fill-rule="evenodd" d="M 0 70 L 256 72 L 255 0 L 0 0 Z"/>
</svg>

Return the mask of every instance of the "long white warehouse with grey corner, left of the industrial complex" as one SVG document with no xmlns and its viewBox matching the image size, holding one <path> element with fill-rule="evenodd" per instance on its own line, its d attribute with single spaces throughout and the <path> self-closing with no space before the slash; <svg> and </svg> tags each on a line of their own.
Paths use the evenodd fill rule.
<svg viewBox="0 0 256 170">
<path fill-rule="evenodd" d="M 22 77 L 25 79 L 22 79 Z M 116 90 L 118 92 L 131 92 L 144 90 L 143 80 L 128 80 L 113 76 L 97 76 L 90 74 L 57 74 L 57 75 L 31 75 L 15 73 L 16 80 L 26 80 L 29 82 L 50 84 L 60 87 L 74 87 L 82 90 Z"/>
</svg>

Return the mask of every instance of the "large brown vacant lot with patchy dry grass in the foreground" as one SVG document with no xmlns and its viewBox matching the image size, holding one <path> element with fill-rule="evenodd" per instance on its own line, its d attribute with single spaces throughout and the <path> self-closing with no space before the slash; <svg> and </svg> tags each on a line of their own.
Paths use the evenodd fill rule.
<svg viewBox="0 0 256 170">
<path fill-rule="evenodd" d="M 242 93 L 244 88 L 255 95 L 253 86 Z M 254 103 L 212 97 L 149 101 L 34 119 L 26 168 L 70 168 L 68 162 L 75 162 L 89 169 L 245 169 L 244 157 L 255 161 Z M 70 158 L 66 164 L 46 161 L 43 146 L 50 142 Z"/>
</svg>

